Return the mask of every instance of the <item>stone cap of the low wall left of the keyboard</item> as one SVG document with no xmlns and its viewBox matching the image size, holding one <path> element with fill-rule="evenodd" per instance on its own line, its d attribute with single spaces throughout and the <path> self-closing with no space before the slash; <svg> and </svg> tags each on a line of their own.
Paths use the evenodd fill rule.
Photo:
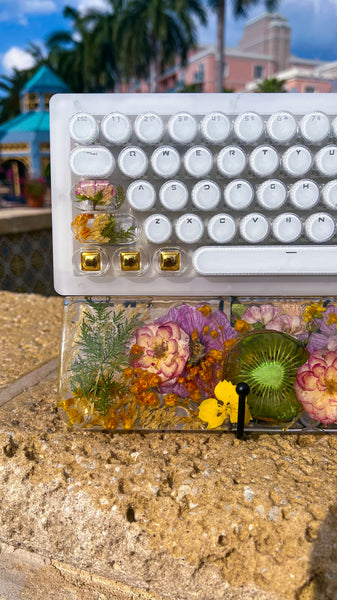
<svg viewBox="0 0 337 600">
<path fill-rule="evenodd" d="M 50 208 L 3 208 L 0 210 L 0 235 L 51 229 Z"/>
</svg>

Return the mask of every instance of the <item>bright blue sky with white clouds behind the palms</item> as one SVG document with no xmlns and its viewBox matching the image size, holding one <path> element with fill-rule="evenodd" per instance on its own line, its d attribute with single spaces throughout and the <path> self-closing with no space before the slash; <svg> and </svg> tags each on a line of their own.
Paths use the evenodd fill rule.
<svg viewBox="0 0 337 600">
<path fill-rule="evenodd" d="M 46 36 L 69 28 L 62 17 L 66 4 L 80 11 L 102 8 L 106 0 L 0 0 L 0 74 L 13 67 L 31 66 L 25 49 L 29 42 L 43 43 Z M 234 20 L 228 1 L 226 44 L 236 46 L 247 19 Z M 292 28 L 291 51 L 301 57 L 337 60 L 337 0 L 280 0 L 278 11 L 287 17 Z M 250 10 L 249 18 L 263 12 L 263 2 Z M 199 32 L 200 42 L 213 43 L 215 17 L 209 11 L 209 24 Z"/>
</svg>

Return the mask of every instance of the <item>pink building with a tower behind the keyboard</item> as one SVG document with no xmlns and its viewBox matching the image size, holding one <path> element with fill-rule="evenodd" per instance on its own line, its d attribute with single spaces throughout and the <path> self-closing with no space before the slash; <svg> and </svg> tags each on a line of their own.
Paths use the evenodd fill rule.
<svg viewBox="0 0 337 600">
<path fill-rule="evenodd" d="M 277 77 L 289 92 L 331 92 L 337 87 L 337 61 L 321 62 L 290 54 L 291 28 L 278 13 L 263 13 L 248 21 L 237 48 L 225 49 L 224 87 L 233 91 L 254 91 L 259 81 Z M 177 59 L 158 80 L 159 92 L 215 90 L 215 46 L 199 46 L 191 51 L 182 68 Z M 125 86 L 130 92 L 148 92 L 149 82 L 134 81 Z"/>
</svg>

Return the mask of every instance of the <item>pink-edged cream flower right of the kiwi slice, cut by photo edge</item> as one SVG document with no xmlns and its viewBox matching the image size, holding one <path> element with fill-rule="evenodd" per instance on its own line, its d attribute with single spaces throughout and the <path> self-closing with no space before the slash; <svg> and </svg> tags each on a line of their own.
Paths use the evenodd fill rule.
<svg viewBox="0 0 337 600">
<path fill-rule="evenodd" d="M 297 371 L 295 391 L 309 417 L 337 422 L 337 351 L 317 350 Z"/>
</svg>

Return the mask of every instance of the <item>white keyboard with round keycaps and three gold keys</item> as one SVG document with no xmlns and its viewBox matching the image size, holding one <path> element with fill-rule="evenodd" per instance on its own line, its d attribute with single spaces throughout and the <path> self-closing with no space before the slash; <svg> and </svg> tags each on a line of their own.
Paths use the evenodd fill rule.
<svg viewBox="0 0 337 600">
<path fill-rule="evenodd" d="M 62 295 L 336 294 L 337 94 L 51 100 Z"/>
</svg>

